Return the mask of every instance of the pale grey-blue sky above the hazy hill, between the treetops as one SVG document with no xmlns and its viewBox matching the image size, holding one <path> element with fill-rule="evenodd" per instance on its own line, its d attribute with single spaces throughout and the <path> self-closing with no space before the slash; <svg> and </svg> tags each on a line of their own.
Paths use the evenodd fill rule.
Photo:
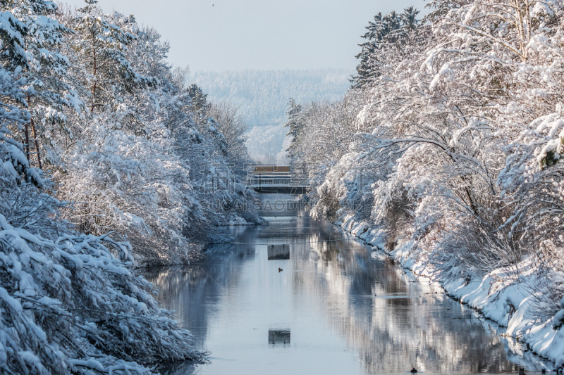
<svg viewBox="0 0 564 375">
<path fill-rule="evenodd" d="M 154 27 L 171 44 L 170 63 L 189 65 L 192 72 L 352 72 L 360 34 L 374 14 L 410 5 L 424 11 L 422 0 L 99 0 L 99 5 L 106 12 L 133 13 L 138 23 Z"/>
</svg>

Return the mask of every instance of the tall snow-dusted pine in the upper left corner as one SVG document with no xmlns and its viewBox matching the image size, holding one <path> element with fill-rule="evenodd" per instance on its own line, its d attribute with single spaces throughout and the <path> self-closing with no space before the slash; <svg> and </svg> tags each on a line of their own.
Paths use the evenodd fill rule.
<svg viewBox="0 0 564 375">
<path fill-rule="evenodd" d="M 27 158 L 37 160 L 36 165 L 41 167 L 40 151 L 44 157 L 49 155 L 48 161 L 57 159 L 59 152 L 51 136 L 54 129 L 68 132 L 63 111 L 68 106 L 80 110 L 81 106 L 69 84 L 68 58 L 60 51 L 70 30 L 54 19 L 57 7 L 51 1 L 5 1 L 0 10 L 8 21 L 3 24 L 11 24 L 20 32 L 19 37 L 10 32 L 4 34 L 4 66 L 20 66 L 30 87 L 25 103 L 30 119 L 23 125 L 23 142 Z M 43 146 L 41 150 L 39 144 Z"/>
</svg>

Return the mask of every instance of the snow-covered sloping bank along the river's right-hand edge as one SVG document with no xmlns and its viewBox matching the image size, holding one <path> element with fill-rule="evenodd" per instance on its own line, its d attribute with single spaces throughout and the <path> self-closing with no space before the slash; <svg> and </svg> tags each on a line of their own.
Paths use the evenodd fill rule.
<svg viewBox="0 0 564 375">
<path fill-rule="evenodd" d="M 343 215 L 334 224 L 374 248 L 384 251 L 417 277 L 431 281 L 432 274 L 450 297 L 460 300 L 461 303 L 484 314 L 484 317 L 506 327 L 506 335 L 525 343 L 535 354 L 554 362 L 557 368 L 564 366 L 564 330 L 553 329 L 556 317 L 545 321 L 532 318 L 534 313 L 531 291 L 534 291 L 534 285 L 527 284 L 526 273 L 522 272 L 519 278 L 509 278 L 507 269 L 496 269 L 486 274 L 483 279 L 467 281 L 460 277 L 453 281 L 444 281 L 440 274 L 437 278 L 437 270 L 431 269 L 429 263 L 422 260 L 420 253 L 411 251 L 412 241 L 402 241 L 395 250 L 388 252 L 384 248 L 384 230 L 380 227 L 357 220 L 353 214 Z"/>
</svg>

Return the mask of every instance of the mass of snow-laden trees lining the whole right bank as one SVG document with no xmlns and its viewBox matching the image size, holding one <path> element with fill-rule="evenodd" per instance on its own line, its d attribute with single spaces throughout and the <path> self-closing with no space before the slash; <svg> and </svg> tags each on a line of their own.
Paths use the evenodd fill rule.
<svg viewBox="0 0 564 375">
<path fill-rule="evenodd" d="M 316 136 L 307 134 L 323 129 L 324 120 L 305 116 L 293 158 L 329 166 L 310 180 L 318 186 L 309 194 L 313 212 L 380 227 L 388 251 L 402 246 L 394 256 L 410 257 L 444 284 L 526 272 L 526 283 L 521 276 L 500 283 L 528 288 L 531 303 L 518 308 L 537 320 L 527 330 L 558 331 L 563 4 L 430 5 L 423 23 L 411 8 L 369 24 L 353 82 L 357 134 L 332 139 L 321 156 L 308 154 Z M 340 139 L 348 152 L 336 159 L 331 151 Z M 490 297 L 502 289 L 491 288 Z M 517 307 L 506 308 L 510 318 Z M 539 350 L 562 364 L 554 345 Z"/>
</svg>

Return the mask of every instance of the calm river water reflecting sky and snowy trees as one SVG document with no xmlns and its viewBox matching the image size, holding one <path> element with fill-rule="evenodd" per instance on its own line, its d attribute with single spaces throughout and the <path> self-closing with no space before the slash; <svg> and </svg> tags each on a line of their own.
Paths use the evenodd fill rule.
<svg viewBox="0 0 564 375">
<path fill-rule="evenodd" d="M 537 357 L 438 286 L 327 222 L 281 212 L 273 200 L 290 196 L 266 199 L 269 225 L 233 227 L 236 243 L 200 265 L 145 274 L 212 353 L 165 374 L 540 374 Z M 284 244 L 290 259 L 268 260 Z"/>
</svg>

